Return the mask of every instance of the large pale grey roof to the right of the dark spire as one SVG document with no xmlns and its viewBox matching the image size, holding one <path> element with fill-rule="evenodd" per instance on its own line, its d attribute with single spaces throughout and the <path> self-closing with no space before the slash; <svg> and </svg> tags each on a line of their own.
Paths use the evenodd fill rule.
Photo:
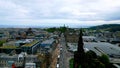
<svg viewBox="0 0 120 68">
<path fill-rule="evenodd" d="M 109 55 L 119 55 L 120 54 L 120 48 L 106 42 L 85 42 L 85 47 L 96 51 L 96 48 L 102 50 L 102 52 L 109 54 Z M 120 56 L 120 55 L 119 55 Z"/>
</svg>

